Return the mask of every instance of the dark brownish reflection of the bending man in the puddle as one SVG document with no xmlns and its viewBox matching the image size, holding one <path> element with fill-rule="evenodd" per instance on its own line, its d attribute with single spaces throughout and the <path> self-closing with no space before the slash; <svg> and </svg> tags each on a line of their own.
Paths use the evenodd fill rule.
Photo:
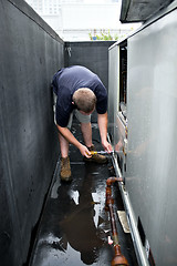
<svg viewBox="0 0 177 266">
<path fill-rule="evenodd" d="M 86 168 L 80 184 L 75 192 L 70 191 L 70 186 L 62 185 L 59 187 L 58 200 L 61 200 L 64 193 L 64 201 L 62 198 L 63 217 L 60 221 L 61 232 L 63 233 L 63 243 L 61 241 L 61 244 L 66 249 L 66 243 L 69 243 L 73 249 L 80 252 L 81 260 L 91 265 L 96 260 L 98 249 L 104 244 L 100 236 L 101 229 L 97 227 L 100 213 L 96 213 L 102 209 L 98 208 L 100 203 L 94 202 L 96 193 L 92 193 L 93 175 L 88 168 Z M 76 202 L 73 195 L 77 195 Z"/>
</svg>

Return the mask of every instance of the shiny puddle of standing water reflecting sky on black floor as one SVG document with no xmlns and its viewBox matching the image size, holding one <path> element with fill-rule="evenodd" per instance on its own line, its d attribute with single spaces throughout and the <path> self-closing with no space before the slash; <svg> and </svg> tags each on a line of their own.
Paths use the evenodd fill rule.
<svg viewBox="0 0 177 266">
<path fill-rule="evenodd" d="M 102 249 L 107 246 L 110 223 L 104 211 L 105 182 L 100 173 L 104 168 L 95 171 L 98 167 L 95 165 L 73 167 L 73 174 L 76 168 L 80 173 L 75 178 L 73 176 L 71 184 L 60 185 L 56 181 L 53 185 L 43 217 L 35 266 L 97 265 Z M 110 254 L 110 249 L 106 252 Z"/>
</svg>

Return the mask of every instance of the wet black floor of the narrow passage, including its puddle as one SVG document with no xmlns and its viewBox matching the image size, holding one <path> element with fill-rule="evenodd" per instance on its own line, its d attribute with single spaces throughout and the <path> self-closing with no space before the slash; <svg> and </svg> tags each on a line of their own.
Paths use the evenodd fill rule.
<svg viewBox="0 0 177 266">
<path fill-rule="evenodd" d="M 76 126 L 73 133 L 77 134 Z M 93 127 L 95 146 L 97 129 Z M 81 136 L 77 135 L 77 139 Z M 82 140 L 81 140 L 82 141 Z M 60 166 L 42 215 L 31 266 L 111 265 L 114 256 L 110 215 L 105 211 L 106 180 L 113 176 L 112 161 L 96 165 L 84 163 L 80 152 L 71 147 L 73 181 L 61 184 Z M 114 187 L 115 211 L 123 209 L 118 187 Z M 129 265 L 137 265 L 131 234 L 125 234 L 117 219 L 121 249 Z"/>
</svg>

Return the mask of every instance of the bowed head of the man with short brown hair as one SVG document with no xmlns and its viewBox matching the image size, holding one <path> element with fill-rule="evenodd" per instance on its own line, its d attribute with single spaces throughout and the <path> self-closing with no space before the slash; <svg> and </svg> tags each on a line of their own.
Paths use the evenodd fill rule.
<svg viewBox="0 0 177 266">
<path fill-rule="evenodd" d="M 73 102 L 76 108 L 85 113 L 91 113 L 96 104 L 96 96 L 88 88 L 80 88 L 73 94 Z"/>
</svg>

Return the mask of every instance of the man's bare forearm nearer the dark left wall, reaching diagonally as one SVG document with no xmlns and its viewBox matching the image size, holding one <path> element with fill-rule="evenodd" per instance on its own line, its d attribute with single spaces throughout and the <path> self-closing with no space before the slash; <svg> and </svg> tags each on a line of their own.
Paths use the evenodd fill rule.
<svg viewBox="0 0 177 266">
<path fill-rule="evenodd" d="M 80 152 L 83 156 L 91 157 L 91 153 L 87 150 L 87 147 L 85 145 L 81 144 L 67 127 L 62 127 L 62 126 L 58 125 L 58 130 L 71 144 L 73 144 L 74 146 L 76 146 L 80 150 Z"/>
</svg>

